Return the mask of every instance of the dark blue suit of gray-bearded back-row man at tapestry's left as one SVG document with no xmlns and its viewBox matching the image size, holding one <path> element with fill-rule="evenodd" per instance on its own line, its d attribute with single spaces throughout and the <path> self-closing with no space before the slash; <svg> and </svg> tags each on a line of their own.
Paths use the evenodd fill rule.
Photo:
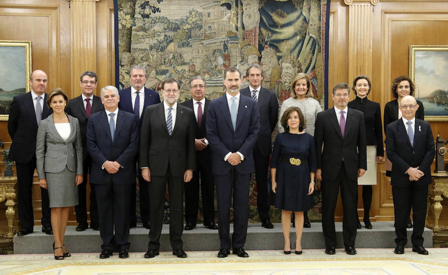
<svg viewBox="0 0 448 275">
<path fill-rule="evenodd" d="M 118 108 L 125 112 L 134 113 L 134 105 L 132 105 L 131 99 L 131 87 L 120 90 L 120 102 L 118 103 Z M 140 129 L 142 129 L 143 116 L 145 115 L 145 109 L 153 104 L 160 103 L 160 96 L 155 90 L 151 90 L 145 87 L 145 101 L 143 103 L 143 110 L 140 119 L 138 120 L 138 135 L 140 136 Z M 135 162 L 138 161 L 138 154 L 136 156 Z M 135 165 L 134 165 L 135 166 Z M 136 166 L 137 167 L 137 166 Z M 138 168 L 137 168 L 138 169 Z M 140 169 L 137 170 L 137 178 L 140 190 L 140 217 L 143 223 L 149 222 L 149 196 L 148 196 L 148 182 L 143 180 L 142 173 Z M 135 226 L 137 223 L 137 216 L 135 214 L 135 202 L 136 202 L 136 182 L 132 184 L 130 204 L 130 220 L 131 226 Z"/>
</svg>

